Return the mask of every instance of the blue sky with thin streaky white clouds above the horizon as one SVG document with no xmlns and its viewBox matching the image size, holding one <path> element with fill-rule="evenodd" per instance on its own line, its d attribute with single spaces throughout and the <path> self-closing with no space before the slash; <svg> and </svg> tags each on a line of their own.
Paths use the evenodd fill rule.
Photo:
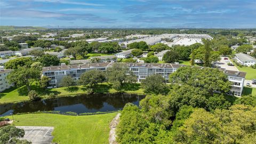
<svg viewBox="0 0 256 144">
<path fill-rule="evenodd" d="M 1 0 L 2 26 L 256 28 L 256 1 Z"/>
</svg>

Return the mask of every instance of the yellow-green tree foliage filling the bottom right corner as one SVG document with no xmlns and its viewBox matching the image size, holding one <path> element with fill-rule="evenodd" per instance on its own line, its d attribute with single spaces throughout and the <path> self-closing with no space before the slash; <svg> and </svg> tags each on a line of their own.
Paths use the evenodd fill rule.
<svg viewBox="0 0 256 144">
<path fill-rule="evenodd" d="M 256 138 L 256 108 L 235 105 L 213 114 L 196 109 L 175 134 L 177 143 L 251 143 Z"/>
</svg>

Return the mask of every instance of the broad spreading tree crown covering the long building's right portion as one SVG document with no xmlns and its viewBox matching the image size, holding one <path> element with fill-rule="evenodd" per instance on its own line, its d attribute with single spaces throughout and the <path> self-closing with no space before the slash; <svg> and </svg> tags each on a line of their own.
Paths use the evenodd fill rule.
<svg viewBox="0 0 256 144">
<path fill-rule="evenodd" d="M 215 68 L 199 69 L 196 67 L 180 67 L 170 75 L 169 82 L 172 84 L 188 84 L 194 87 L 200 87 L 211 95 L 215 91 L 226 93 L 231 88 L 231 83 L 228 81 L 227 75 Z"/>
</svg>

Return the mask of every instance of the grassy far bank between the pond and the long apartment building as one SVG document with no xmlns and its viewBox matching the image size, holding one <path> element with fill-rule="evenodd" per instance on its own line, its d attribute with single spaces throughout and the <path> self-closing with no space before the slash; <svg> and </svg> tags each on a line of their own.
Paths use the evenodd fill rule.
<svg viewBox="0 0 256 144">
<path fill-rule="evenodd" d="M 38 85 L 33 85 L 32 90 L 36 90 L 39 95 L 43 98 L 47 98 L 46 94 L 55 93 L 57 97 L 70 96 L 85 94 L 86 87 L 84 86 L 75 86 L 75 87 L 58 87 L 53 89 L 41 89 Z M 115 89 L 111 88 L 111 85 L 107 83 L 101 83 L 94 87 L 95 93 L 116 93 Z M 141 89 L 140 84 L 124 85 L 123 89 L 120 92 L 124 93 L 134 93 L 134 94 L 145 94 L 143 89 Z M 27 96 L 26 86 L 19 88 L 13 87 L 11 89 L 5 90 L 0 93 L 0 103 L 10 103 L 10 102 L 20 102 L 29 100 Z"/>
</svg>

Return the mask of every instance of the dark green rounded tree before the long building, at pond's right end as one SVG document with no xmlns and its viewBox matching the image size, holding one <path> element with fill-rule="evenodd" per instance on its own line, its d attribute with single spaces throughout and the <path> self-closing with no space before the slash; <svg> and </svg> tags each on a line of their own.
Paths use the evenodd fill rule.
<svg viewBox="0 0 256 144">
<path fill-rule="evenodd" d="M 146 93 L 166 94 L 165 79 L 161 75 L 151 75 L 143 79 L 141 86 Z"/>
</svg>

